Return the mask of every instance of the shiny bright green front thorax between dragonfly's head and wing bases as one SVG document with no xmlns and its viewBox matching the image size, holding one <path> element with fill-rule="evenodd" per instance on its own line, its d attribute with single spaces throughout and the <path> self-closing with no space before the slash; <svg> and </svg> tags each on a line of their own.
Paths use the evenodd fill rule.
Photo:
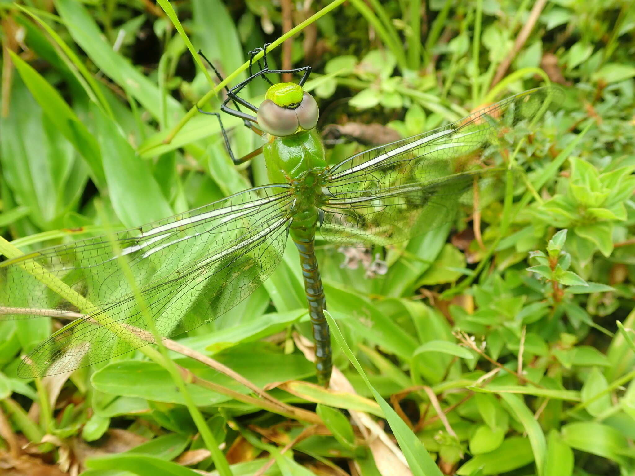
<svg viewBox="0 0 635 476">
<path fill-rule="evenodd" d="M 271 183 L 293 183 L 304 180 L 309 171 L 318 175 L 326 169 L 324 145 L 315 128 L 291 136 L 270 135 L 262 153 Z"/>
</svg>

